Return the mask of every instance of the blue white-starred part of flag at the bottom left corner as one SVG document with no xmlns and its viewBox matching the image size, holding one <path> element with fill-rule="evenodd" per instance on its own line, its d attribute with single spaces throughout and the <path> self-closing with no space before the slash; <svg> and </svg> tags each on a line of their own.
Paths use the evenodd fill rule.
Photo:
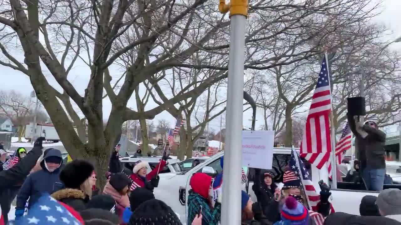
<svg viewBox="0 0 401 225">
<path fill-rule="evenodd" d="M 15 225 L 22 224 L 60 224 L 81 225 L 82 223 L 71 212 L 49 194 L 44 194 L 29 209 L 29 214 L 17 219 Z"/>
</svg>

